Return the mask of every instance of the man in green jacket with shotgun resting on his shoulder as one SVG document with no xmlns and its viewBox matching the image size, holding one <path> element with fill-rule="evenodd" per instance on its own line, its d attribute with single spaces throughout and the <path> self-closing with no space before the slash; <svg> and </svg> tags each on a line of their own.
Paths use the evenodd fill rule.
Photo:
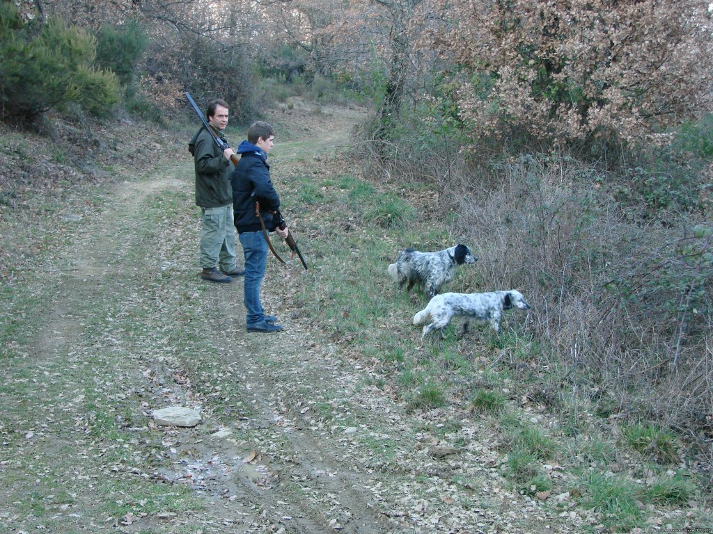
<svg viewBox="0 0 713 534">
<path fill-rule="evenodd" d="M 225 142 L 228 106 L 213 100 L 205 112 L 212 133 Z M 225 144 L 227 146 L 227 142 Z M 232 148 L 221 150 L 210 132 L 202 127 L 188 143 L 195 161 L 195 204 L 202 211 L 200 232 L 200 278 L 210 282 L 230 282 L 245 271 L 235 259 L 235 224 L 232 214 L 230 175 Z"/>
</svg>

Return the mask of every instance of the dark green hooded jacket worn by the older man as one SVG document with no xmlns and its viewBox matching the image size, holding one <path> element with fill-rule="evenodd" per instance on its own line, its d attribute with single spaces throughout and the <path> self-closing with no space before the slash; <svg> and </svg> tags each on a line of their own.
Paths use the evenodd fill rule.
<svg viewBox="0 0 713 534">
<path fill-rule="evenodd" d="M 225 141 L 225 134 L 213 130 Z M 202 208 L 217 208 L 232 204 L 230 175 L 233 164 L 225 159 L 210 133 L 202 127 L 188 143 L 195 161 L 195 204 Z"/>
</svg>

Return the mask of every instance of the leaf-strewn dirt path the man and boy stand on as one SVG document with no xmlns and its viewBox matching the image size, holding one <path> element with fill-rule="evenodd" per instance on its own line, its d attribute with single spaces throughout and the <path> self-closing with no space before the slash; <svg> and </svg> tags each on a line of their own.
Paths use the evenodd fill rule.
<svg viewBox="0 0 713 534">
<path fill-rule="evenodd" d="M 297 154 L 333 158 L 358 116 L 284 113 L 278 183 Z M 463 422 L 451 446 L 428 429 L 457 407 L 404 412 L 305 324 L 290 292 L 314 273 L 270 263 L 264 298 L 287 332 L 246 333 L 242 284 L 196 276 L 192 205 L 190 162 L 118 184 L 34 280 L 34 340 L 0 397 L 9 532 L 577 530 L 503 489 L 489 429 Z M 169 405 L 203 422 L 156 427 Z"/>
</svg>

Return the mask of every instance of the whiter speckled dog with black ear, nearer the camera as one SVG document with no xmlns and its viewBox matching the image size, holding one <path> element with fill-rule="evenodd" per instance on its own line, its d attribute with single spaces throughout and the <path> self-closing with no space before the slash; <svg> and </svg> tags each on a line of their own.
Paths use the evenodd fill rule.
<svg viewBox="0 0 713 534">
<path fill-rule="evenodd" d="M 426 308 L 414 315 L 414 325 L 428 323 L 424 326 L 421 339 L 431 330 L 441 330 L 443 336 L 443 328 L 453 317 L 465 318 L 461 335 L 468 331 L 468 323 L 471 320 L 478 323 L 490 322 L 493 330 L 498 332 L 503 310 L 513 307 L 520 310 L 530 309 L 522 293 L 514 289 L 491 293 L 443 293 L 431 298 Z"/>
</svg>

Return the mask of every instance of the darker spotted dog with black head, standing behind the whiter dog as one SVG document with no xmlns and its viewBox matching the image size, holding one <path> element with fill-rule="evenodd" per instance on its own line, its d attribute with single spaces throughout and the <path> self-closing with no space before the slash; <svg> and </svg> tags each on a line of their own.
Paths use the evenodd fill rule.
<svg viewBox="0 0 713 534">
<path fill-rule="evenodd" d="M 399 287 L 408 282 L 410 291 L 418 284 L 429 297 L 433 297 L 444 283 L 453 278 L 457 266 L 476 263 L 477 260 L 465 245 L 451 246 L 437 252 L 419 252 L 414 248 L 406 248 L 399 253 L 396 263 L 389 265 L 389 276 L 399 283 Z"/>
</svg>

